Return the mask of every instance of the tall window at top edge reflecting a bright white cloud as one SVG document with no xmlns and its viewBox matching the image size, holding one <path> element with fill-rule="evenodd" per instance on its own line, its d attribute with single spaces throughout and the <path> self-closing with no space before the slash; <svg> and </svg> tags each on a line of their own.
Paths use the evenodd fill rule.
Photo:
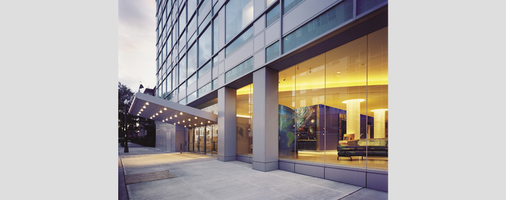
<svg viewBox="0 0 506 200">
<path fill-rule="evenodd" d="M 253 20 L 253 0 L 230 1 L 225 7 L 225 43 Z"/>
</svg>

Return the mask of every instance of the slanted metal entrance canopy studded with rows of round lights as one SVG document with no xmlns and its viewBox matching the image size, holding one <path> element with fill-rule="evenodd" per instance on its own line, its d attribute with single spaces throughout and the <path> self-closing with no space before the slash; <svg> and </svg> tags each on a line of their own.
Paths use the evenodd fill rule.
<svg viewBox="0 0 506 200">
<path fill-rule="evenodd" d="M 129 114 L 191 128 L 218 123 L 218 115 L 137 92 Z"/>
</svg>

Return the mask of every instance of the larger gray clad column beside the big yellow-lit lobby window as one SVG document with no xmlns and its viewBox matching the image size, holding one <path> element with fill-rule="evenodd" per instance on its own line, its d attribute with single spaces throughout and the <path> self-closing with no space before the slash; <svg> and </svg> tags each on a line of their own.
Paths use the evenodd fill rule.
<svg viewBox="0 0 506 200">
<path fill-rule="evenodd" d="M 253 72 L 253 169 L 278 169 L 278 71 Z"/>
</svg>

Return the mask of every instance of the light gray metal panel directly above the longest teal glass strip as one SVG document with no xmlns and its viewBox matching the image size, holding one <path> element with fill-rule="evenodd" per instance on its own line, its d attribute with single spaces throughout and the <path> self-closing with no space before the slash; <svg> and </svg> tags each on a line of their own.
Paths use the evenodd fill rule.
<svg viewBox="0 0 506 200">
<path fill-rule="evenodd" d="M 283 35 L 312 18 L 336 0 L 304 1 L 283 17 Z"/>
</svg>

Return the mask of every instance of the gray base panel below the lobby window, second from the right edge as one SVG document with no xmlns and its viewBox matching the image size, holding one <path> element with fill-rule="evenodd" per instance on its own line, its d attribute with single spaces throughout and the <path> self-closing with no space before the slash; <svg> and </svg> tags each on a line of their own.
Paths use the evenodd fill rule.
<svg viewBox="0 0 506 200">
<path fill-rule="evenodd" d="M 365 187 L 365 172 L 325 168 L 325 179 Z"/>
</svg>

